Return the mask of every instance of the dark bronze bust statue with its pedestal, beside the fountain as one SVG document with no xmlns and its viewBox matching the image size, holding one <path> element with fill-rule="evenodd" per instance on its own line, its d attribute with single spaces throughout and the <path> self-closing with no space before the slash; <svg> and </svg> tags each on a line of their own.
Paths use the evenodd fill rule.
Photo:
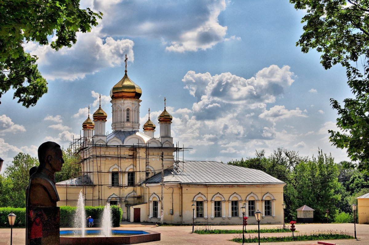
<svg viewBox="0 0 369 245">
<path fill-rule="evenodd" d="M 60 145 L 45 142 L 38 148 L 38 167 L 30 169 L 26 189 L 26 244 L 59 244 L 59 195 L 55 188 L 55 172 L 62 169 L 64 160 Z"/>
</svg>

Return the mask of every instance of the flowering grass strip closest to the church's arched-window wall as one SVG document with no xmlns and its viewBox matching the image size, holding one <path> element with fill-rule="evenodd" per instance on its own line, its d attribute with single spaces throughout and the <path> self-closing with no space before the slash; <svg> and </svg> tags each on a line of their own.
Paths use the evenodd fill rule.
<svg viewBox="0 0 369 245">
<path fill-rule="evenodd" d="M 260 229 L 260 233 L 280 233 L 280 232 L 291 232 L 290 229 L 284 228 L 281 225 L 277 228 L 263 228 Z M 295 231 L 296 232 L 296 231 Z M 212 229 L 210 225 L 206 225 L 202 228 L 196 228 L 194 233 L 197 234 L 239 234 L 242 233 L 242 230 L 220 230 L 220 229 Z M 245 230 L 245 233 L 258 233 L 257 229 L 253 230 Z"/>
</svg>

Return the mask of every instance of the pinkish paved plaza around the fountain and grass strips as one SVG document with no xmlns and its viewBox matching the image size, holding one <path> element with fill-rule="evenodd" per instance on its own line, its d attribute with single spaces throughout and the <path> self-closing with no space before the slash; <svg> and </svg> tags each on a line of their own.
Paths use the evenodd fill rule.
<svg viewBox="0 0 369 245">
<path fill-rule="evenodd" d="M 275 225 L 260 225 L 263 227 L 275 227 Z M 195 226 L 196 228 L 197 226 Z M 199 226 L 201 228 L 201 226 Z M 214 225 L 211 226 L 213 229 L 242 229 L 242 225 Z M 248 225 L 247 229 L 257 229 L 257 225 Z M 151 223 L 128 223 L 122 222 L 121 227 L 118 229 L 122 230 L 152 230 L 161 233 L 161 241 L 142 243 L 141 245 L 188 245 L 188 244 L 220 244 L 237 245 L 236 242 L 229 241 L 234 238 L 236 234 L 215 234 L 215 235 L 199 235 L 192 234 L 192 226 L 156 226 Z M 300 232 L 310 232 L 310 231 L 322 231 L 322 230 L 334 230 L 334 231 L 348 231 L 354 234 L 354 224 L 297 224 L 296 230 Z M 296 235 L 299 232 L 295 233 Z M 245 234 L 245 237 L 249 235 L 254 236 L 258 234 Z M 263 233 L 261 236 L 283 236 L 289 235 L 289 233 Z M 348 240 L 331 240 L 329 242 L 335 243 L 337 245 L 369 245 L 369 225 L 356 224 L 356 236 L 358 239 L 348 239 Z M 326 241 L 327 242 L 327 241 Z M 0 229 L 0 245 L 10 244 L 10 228 Z M 24 245 L 25 244 L 25 229 L 24 228 L 14 228 L 13 229 L 13 244 L 14 245 Z M 248 243 L 250 245 L 255 245 L 256 243 Z M 263 243 L 263 245 L 317 245 L 318 241 L 305 241 L 305 242 L 268 242 Z"/>
</svg>

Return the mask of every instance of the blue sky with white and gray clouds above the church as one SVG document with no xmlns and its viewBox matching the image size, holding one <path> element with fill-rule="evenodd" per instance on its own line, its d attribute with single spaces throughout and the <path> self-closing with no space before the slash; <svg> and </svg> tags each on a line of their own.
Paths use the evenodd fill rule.
<svg viewBox="0 0 369 245">
<path fill-rule="evenodd" d="M 156 124 L 164 108 L 173 116 L 175 144 L 189 149 L 184 159 L 223 161 L 254 157 L 278 147 L 336 162 L 346 151 L 331 146 L 337 130 L 330 98 L 352 97 L 345 70 L 321 66 L 320 55 L 296 47 L 301 18 L 284 0 L 82 0 L 101 11 L 89 33 L 78 33 L 72 48 L 54 51 L 24 44 L 48 81 L 48 93 L 34 107 L 1 97 L 0 157 L 11 163 L 19 152 L 37 157 L 42 142 L 68 148 L 82 123 L 99 107 L 108 114 L 110 90 L 124 76 L 142 89 L 140 123 Z M 50 37 L 53 39 L 54 37 Z M 182 156 L 180 156 L 182 157 Z"/>
</svg>

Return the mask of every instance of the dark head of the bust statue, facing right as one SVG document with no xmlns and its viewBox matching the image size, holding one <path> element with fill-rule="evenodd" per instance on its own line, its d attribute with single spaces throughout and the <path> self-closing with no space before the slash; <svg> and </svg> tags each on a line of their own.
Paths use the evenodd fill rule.
<svg viewBox="0 0 369 245">
<path fill-rule="evenodd" d="M 38 172 L 45 168 L 53 173 L 61 171 L 64 160 L 60 145 L 51 141 L 42 143 L 38 148 L 38 161 L 40 162 Z"/>
</svg>

